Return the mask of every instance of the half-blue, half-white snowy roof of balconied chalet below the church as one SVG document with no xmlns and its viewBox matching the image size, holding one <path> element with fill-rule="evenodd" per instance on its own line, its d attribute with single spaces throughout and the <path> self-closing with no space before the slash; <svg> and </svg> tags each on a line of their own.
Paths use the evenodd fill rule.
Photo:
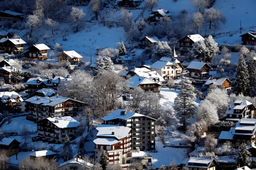
<svg viewBox="0 0 256 170">
<path fill-rule="evenodd" d="M 138 85 L 148 85 L 148 84 L 158 84 L 159 86 L 162 86 L 159 83 L 154 82 L 151 79 L 148 79 L 147 77 L 141 77 L 141 76 L 131 77 L 130 79 L 128 79 L 128 83 L 131 88 L 135 88 Z"/>
</svg>

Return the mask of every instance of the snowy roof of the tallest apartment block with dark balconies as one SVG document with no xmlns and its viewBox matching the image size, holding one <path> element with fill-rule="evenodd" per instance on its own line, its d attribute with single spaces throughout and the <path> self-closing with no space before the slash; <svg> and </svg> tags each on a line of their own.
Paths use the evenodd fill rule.
<svg viewBox="0 0 256 170">
<path fill-rule="evenodd" d="M 151 117 L 142 115 L 140 113 L 135 113 L 132 111 L 126 111 L 126 114 L 122 114 L 124 112 L 125 112 L 125 110 L 123 110 L 123 109 L 117 109 L 116 111 L 113 111 L 113 112 L 109 113 L 107 116 L 103 117 L 102 120 L 105 120 L 105 121 L 112 120 L 112 119 L 127 120 L 131 117 L 147 117 L 149 119 L 153 119 Z M 156 120 L 156 119 L 153 119 L 153 120 Z"/>
</svg>

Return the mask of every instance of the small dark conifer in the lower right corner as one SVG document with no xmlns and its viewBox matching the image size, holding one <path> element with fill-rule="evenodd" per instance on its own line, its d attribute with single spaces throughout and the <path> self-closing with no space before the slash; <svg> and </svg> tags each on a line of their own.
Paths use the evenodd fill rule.
<svg viewBox="0 0 256 170">
<path fill-rule="evenodd" d="M 248 163 L 250 162 L 250 156 L 251 154 L 247 150 L 246 143 L 240 144 L 236 159 L 241 167 L 248 165 Z"/>
</svg>

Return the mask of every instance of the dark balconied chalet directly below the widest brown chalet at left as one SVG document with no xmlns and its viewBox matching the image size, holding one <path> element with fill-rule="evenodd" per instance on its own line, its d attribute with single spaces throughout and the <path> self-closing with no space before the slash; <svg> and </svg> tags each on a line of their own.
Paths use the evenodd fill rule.
<svg viewBox="0 0 256 170">
<path fill-rule="evenodd" d="M 37 122 L 38 135 L 44 136 L 55 143 L 63 143 L 65 136 L 68 135 L 70 140 L 77 137 L 77 128 L 80 125 L 71 116 L 47 117 Z"/>
</svg>

